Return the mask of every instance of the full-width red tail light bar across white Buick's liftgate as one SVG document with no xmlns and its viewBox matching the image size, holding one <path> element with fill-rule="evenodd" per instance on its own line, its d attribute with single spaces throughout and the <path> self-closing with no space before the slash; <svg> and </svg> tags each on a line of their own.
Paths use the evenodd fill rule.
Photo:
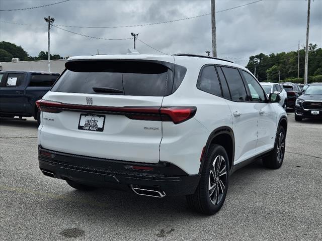
<svg viewBox="0 0 322 241">
<path fill-rule="evenodd" d="M 84 111 L 97 112 L 107 114 L 125 115 L 130 119 L 139 119 L 142 121 L 163 121 L 179 124 L 192 118 L 197 108 L 195 106 L 180 106 L 180 107 L 139 107 L 139 106 L 98 106 L 98 105 L 83 105 L 83 104 L 65 104 L 50 100 L 37 100 L 37 107 L 40 111 L 59 113 L 61 111 Z"/>
</svg>

